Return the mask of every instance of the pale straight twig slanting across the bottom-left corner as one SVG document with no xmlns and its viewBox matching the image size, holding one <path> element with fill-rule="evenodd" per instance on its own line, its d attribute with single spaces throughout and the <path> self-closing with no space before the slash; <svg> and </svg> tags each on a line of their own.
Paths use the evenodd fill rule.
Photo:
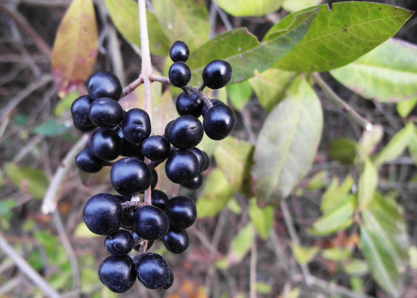
<svg viewBox="0 0 417 298">
<path fill-rule="evenodd" d="M 53 289 L 25 259 L 16 253 L 14 248 L 7 243 L 2 233 L 0 233 L 0 248 L 15 262 L 19 269 L 22 270 L 28 278 L 35 283 L 35 285 L 38 285 L 45 295 L 48 295 L 50 298 L 61 298 L 58 292 Z"/>
</svg>

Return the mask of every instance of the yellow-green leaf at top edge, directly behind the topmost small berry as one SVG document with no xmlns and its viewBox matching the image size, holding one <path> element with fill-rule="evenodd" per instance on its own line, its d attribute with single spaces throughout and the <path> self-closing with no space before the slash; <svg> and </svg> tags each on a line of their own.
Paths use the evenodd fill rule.
<svg viewBox="0 0 417 298">
<path fill-rule="evenodd" d="M 152 4 L 171 43 L 182 40 L 193 51 L 208 40 L 208 12 L 203 0 L 153 0 Z"/>
</svg>

